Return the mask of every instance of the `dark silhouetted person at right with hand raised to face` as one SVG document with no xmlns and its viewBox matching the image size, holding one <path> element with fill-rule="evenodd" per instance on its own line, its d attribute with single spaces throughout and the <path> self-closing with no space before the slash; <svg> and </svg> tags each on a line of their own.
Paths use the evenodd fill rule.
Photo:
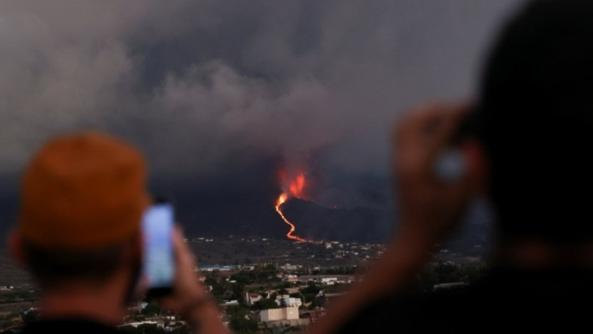
<svg viewBox="0 0 593 334">
<path fill-rule="evenodd" d="M 589 328 L 592 134 L 593 1 L 533 1 L 498 37 L 475 106 L 426 105 L 400 122 L 399 233 L 311 333 Z M 439 178 L 436 160 L 454 142 L 467 170 Z M 433 245 L 483 193 L 498 220 L 489 273 L 459 289 L 412 292 Z"/>
</svg>

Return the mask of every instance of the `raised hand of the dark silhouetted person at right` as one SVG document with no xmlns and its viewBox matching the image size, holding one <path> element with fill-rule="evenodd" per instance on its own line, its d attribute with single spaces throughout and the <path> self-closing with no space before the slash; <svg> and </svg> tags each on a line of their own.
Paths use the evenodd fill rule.
<svg viewBox="0 0 593 334">
<path fill-rule="evenodd" d="M 471 189 L 463 167 L 467 164 L 451 138 L 467 112 L 465 104 L 425 105 L 397 125 L 394 172 L 400 234 L 414 239 L 412 244 L 441 241 L 457 227 L 465 210 Z"/>
</svg>

